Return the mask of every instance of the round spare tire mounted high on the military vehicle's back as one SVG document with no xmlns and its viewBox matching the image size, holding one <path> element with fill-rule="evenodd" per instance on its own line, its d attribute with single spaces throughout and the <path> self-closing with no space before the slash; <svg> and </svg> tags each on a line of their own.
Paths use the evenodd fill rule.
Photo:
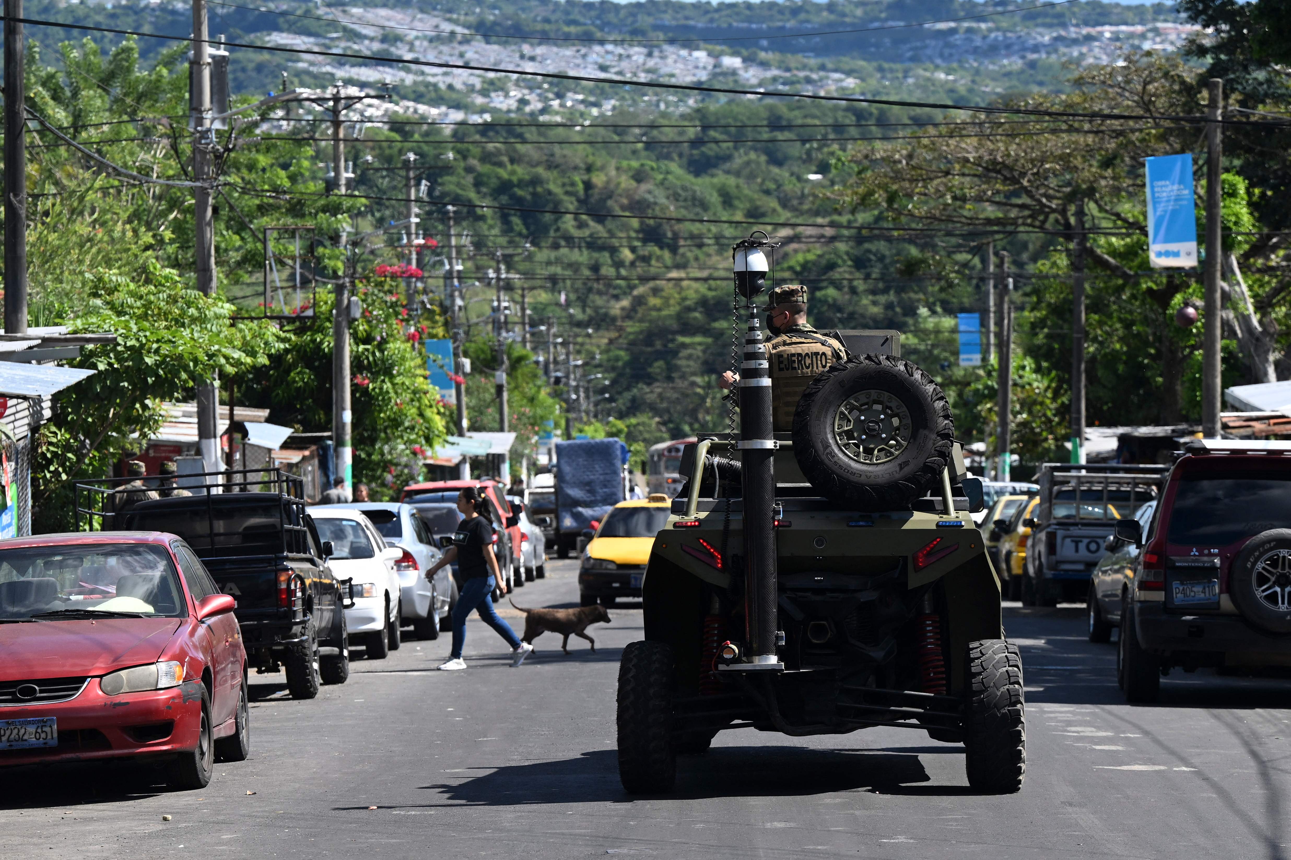
<svg viewBox="0 0 1291 860">
<path fill-rule="evenodd" d="M 821 373 L 794 413 L 794 456 L 817 491 L 853 511 L 908 508 L 941 478 L 955 428 L 915 365 L 853 356 Z"/>
</svg>

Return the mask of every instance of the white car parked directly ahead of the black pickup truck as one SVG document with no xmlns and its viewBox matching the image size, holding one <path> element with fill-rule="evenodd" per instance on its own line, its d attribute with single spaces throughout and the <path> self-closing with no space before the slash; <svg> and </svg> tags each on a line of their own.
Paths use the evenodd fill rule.
<svg viewBox="0 0 1291 860">
<path fill-rule="evenodd" d="M 355 508 L 314 505 L 310 516 L 319 540 L 332 542 L 332 575 L 351 581 L 354 606 L 345 610 L 351 643 L 365 645 L 369 660 L 383 660 L 399 649 L 403 589 L 395 561 L 403 549 L 387 547 L 372 521 Z"/>
</svg>

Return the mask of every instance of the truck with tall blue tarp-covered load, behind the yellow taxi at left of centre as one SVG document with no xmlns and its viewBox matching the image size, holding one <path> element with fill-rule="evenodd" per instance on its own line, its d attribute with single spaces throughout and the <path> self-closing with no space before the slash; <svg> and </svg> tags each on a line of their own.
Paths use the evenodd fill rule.
<svg viewBox="0 0 1291 860">
<path fill-rule="evenodd" d="M 627 498 L 627 446 L 617 438 L 556 442 L 556 557 L 568 558 L 584 530 Z"/>
</svg>

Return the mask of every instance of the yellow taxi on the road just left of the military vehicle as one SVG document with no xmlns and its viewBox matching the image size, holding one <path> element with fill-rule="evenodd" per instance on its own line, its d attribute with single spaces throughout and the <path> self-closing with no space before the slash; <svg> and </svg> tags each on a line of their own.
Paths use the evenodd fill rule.
<svg viewBox="0 0 1291 860">
<path fill-rule="evenodd" d="M 578 569 L 578 605 L 613 606 L 640 597 L 655 535 L 667 523 L 671 500 L 662 493 L 620 502 L 587 540 Z"/>
</svg>

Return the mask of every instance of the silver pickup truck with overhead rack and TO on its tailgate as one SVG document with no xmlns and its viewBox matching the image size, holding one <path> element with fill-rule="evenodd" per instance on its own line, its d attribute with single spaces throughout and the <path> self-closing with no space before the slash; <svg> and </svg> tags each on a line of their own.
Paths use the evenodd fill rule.
<svg viewBox="0 0 1291 860">
<path fill-rule="evenodd" d="M 1083 602 L 1117 520 L 1157 498 L 1168 467 L 1044 463 L 1035 476 L 1039 504 L 1030 526 L 1022 603 Z"/>
</svg>

